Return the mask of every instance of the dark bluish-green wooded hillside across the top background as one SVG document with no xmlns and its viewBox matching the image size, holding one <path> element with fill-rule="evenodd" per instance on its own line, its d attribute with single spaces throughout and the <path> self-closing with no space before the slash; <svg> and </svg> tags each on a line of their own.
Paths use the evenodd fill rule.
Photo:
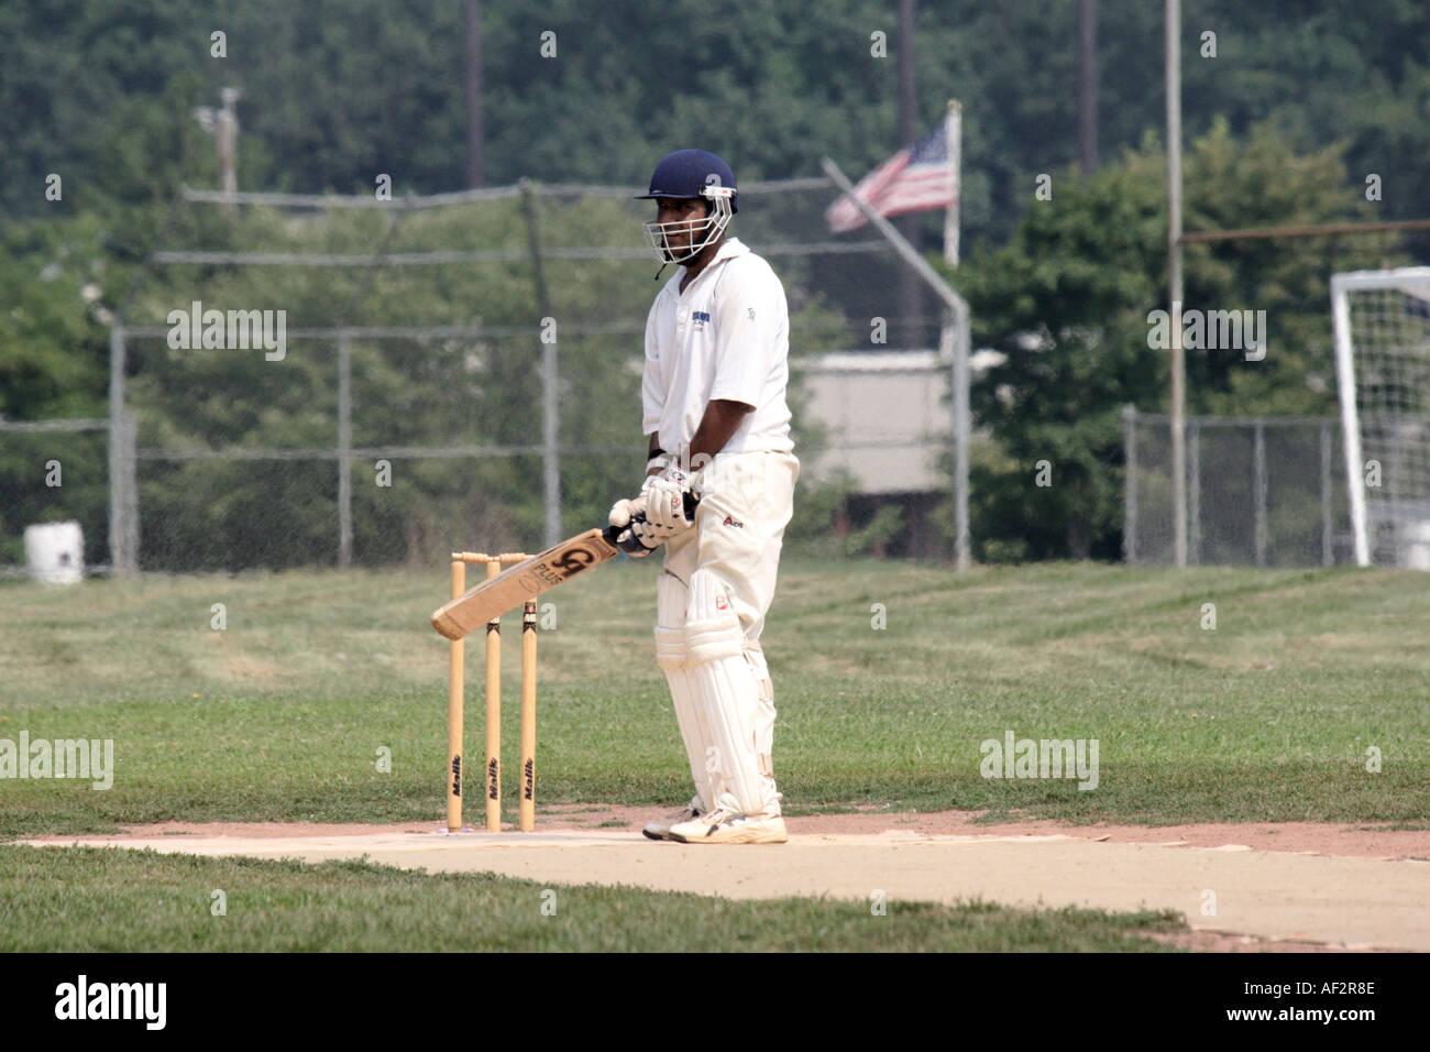
<svg viewBox="0 0 1430 1052">
<path fill-rule="evenodd" d="M 1430 200 L 1430 11 L 1420 0 L 1184 9 L 1188 136 L 1217 117 L 1243 135 L 1274 123 L 1298 152 L 1348 145 L 1354 172 L 1386 180 L 1383 213 Z M 226 59 L 210 33 L 226 33 Z M 919 123 L 965 107 L 965 230 L 1002 243 L 1031 179 L 1077 156 L 1077 4 L 924 3 L 917 23 Z M 555 57 L 542 57 L 543 33 Z M 885 33 L 889 56 L 871 56 Z M 1204 34 L 1216 34 L 1216 57 Z M 699 140 L 742 179 L 849 172 L 895 142 L 892 7 L 868 0 L 731 6 L 671 0 L 619 16 L 556 0 L 485 4 L 488 182 L 635 183 L 672 143 Z M 1163 123 L 1163 13 L 1103 0 L 1103 156 Z M 243 90 L 240 183 L 368 192 L 463 185 L 460 4 L 413 0 L 14 0 L 0 9 L 0 206 L 49 215 L 49 172 L 66 208 L 162 202 L 180 179 L 212 179 L 190 116 Z"/>
</svg>

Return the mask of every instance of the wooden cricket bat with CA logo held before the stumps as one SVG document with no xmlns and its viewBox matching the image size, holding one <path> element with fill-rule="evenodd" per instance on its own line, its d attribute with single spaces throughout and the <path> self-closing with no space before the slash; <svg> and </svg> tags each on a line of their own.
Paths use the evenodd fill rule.
<svg viewBox="0 0 1430 1052">
<path fill-rule="evenodd" d="M 685 514 L 692 520 L 696 504 L 694 495 L 685 494 Z M 636 515 L 636 520 L 642 518 L 644 515 Z M 460 640 L 493 617 L 500 617 L 508 610 L 522 605 L 532 595 L 551 591 L 576 574 L 613 558 L 623 547 L 616 541 L 621 532 L 623 528 L 618 527 L 586 530 L 539 555 L 532 555 L 525 562 L 503 570 L 489 581 L 468 588 L 462 595 L 439 607 L 432 614 L 432 627 L 449 640 Z M 628 544 L 639 542 L 629 538 Z M 625 547 L 625 550 L 632 551 L 631 547 Z"/>
</svg>

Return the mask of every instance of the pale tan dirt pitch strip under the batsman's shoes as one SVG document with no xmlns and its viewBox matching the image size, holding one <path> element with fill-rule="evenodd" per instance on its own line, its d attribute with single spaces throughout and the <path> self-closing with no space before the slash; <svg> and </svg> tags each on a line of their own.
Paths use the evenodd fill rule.
<svg viewBox="0 0 1430 1052">
<path fill-rule="evenodd" d="M 1430 830 L 1317 823 L 1194 826 L 985 824 L 962 812 L 786 819 L 789 843 L 656 843 L 658 812 L 546 810 L 535 833 L 392 826 L 163 823 L 119 836 L 24 843 L 152 847 L 303 862 L 362 859 L 429 872 L 493 872 L 551 883 L 632 885 L 732 899 L 1174 909 L 1208 950 L 1430 950 Z M 1204 915 L 1207 893 L 1216 913 Z"/>
</svg>

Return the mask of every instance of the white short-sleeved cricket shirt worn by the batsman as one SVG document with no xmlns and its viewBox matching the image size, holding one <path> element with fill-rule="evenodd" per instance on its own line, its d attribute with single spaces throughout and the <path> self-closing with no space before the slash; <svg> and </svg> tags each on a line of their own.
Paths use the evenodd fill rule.
<svg viewBox="0 0 1430 1052">
<path fill-rule="evenodd" d="M 676 268 L 645 322 L 644 434 L 659 431 L 661 448 L 678 452 L 706 404 L 729 399 L 755 408 L 718 452 L 791 452 L 785 286 L 735 238 L 682 293 L 684 276 Z"/>
</svg>

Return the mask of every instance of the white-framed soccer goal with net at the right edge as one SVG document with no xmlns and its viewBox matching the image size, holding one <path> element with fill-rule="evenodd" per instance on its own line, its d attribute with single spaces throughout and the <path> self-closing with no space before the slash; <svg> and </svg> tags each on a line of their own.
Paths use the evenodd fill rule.
<svg viewBox="0 0 1430 1052">
<path fill-rule="evenodd" d="M 1331 278 L 1358 565 L 1430 570 L 1430 266 Z"/>
</svg>

